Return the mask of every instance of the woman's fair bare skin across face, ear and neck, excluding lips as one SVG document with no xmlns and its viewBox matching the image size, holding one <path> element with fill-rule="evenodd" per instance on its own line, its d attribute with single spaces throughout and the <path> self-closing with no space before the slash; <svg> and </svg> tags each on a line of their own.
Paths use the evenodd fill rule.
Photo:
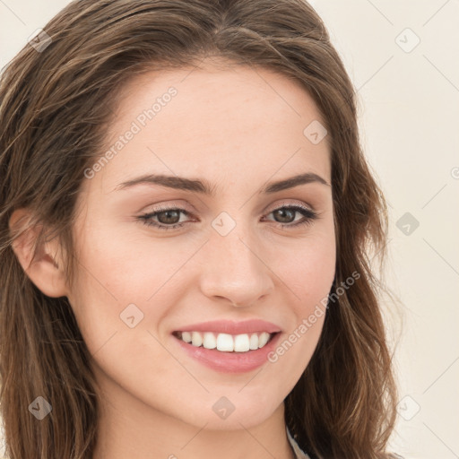
<svg viewBox="0 0 459 459">
<path fill-rule="evenodd" d="M 190 359 L 171 333 L 213 319 L 262 318 L 281 327 L 282 342 L 327 296 L 335 266 L 330 148 L 327 137 L 313 144 L 303 134 L 322 118 L 307 91 L 281 74 L 206 61 L 129 82 L 107 148 L 170 86 L 177 96 L 83 180 L 73 289 L 56 240 L 30 267 L 29 246 L 18 241 L 14 250 L 39 289 L 69 299 L 93 355 L 104 401 L 94 459 L 292 458 L 283 400 L 316 349 L 325 315 L 275 363 L 238 375 Z M 117 189 L 147 172 L 208 180 L 215 195 Z M 258 195 L 266 182 L 303 172 L 329 185 Z M 159 204 L 189 212 L 179 214 L 184 226 L 158 230 L 137 218 Z M 295 204 L 318 218 L 281 228 L 303 215 L 282 220 L 273 211 Z M 24 212 L 14 212 L 12 224 Z M 226 236 L 212 228 L 221 212 L 236 223 Z M 134 328 L 120 320 L 132 303 L 143 313 Z M 224 420 L 212 411 L 221 396 L 235 406 Z"/>
</svg>

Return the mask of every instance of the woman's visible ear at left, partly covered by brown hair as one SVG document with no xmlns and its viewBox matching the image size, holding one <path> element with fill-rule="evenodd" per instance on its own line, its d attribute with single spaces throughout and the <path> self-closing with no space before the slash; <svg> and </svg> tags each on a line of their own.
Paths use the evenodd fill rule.
<svg viewBox="0 0 459 459">
<path fill-rule="evenodd" d="M 33 212 L 29 209 L 17 209 L 10 217 L 10 232 L 26 228 L 25 223 L 31 220 Z M 22 269 L 39 290 L 48 297 L 64 297 L 67 295 L 64 261 L 57 238 L 43 242 L 37 247 L 34 257 L 34 245 L 43 225 L 31 226 L 19 238 L 13 241 L 13 252 Z"/>
</svg>

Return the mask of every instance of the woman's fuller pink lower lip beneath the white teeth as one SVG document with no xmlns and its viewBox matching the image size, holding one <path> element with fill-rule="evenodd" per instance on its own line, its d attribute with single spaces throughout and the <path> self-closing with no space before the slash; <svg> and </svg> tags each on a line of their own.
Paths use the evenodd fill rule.
<svg viewBox="0 0 459 459">
<path fill-rule="evenodd" d="M 263 348 L 247 352 L 222 352 L 216 349 L 197 348 L 176 336 L 173 338 L 189 356 L 208 368 L 222 373 L 246 373 L 261 367 L 268 361 L 268 354 L 275 349 L 280 336 L 281 333 L 276 333 Z"/>
</svg>

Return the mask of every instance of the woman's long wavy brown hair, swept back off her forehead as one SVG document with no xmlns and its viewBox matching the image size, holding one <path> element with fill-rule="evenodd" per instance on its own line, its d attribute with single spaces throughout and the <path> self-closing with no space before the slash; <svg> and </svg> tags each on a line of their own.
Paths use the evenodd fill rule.
<svg viewBox="0 0 459 459">
<path fill-rule="evenodd" d="M 59 238 L 71 283 L 75 200 L 84 170 L 102 154 L 117 90 L 135 74 L 206 56 L 300 82 L 329 133 L 333 300 L 285 399 L 286 424 L 311 458 L 391 457 L 397 394 L 382 283 L 371 269 L 371 256 L 385 256 L 385 199 L 359 144 L 356 92 L 314 9 L 303 0 L 79 0 L 44 30 L 43 47 L 25 46 L 0 80 L 0 403 L 9 457 L 91 458 L 100 406 L 72 307 L 30 281 L 12 249 L 21 232 L 9 219 L 15 209 L 33 210 L 22 230 L 39 229 L 37 250 Z M 359 280 L 337 293 L 351 273 Z M 39 422 L 29 412 L 38 396 L 53 410 Z"/>
</svg>

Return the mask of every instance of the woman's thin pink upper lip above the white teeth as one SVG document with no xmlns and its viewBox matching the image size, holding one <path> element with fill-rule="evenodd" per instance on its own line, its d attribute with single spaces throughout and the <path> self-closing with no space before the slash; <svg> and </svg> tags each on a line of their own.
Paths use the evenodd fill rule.
<svg viewBox="0 0 459 459">
<path fill-rule="evenodd" d="M 200 324 L 186 325 L 178 328 L 177 331 L 243 334 L 256 332 L 277 333 L 281 332 L 281 328 L 262 319 L 251 319 L 240 322 L 234 320 L 212 320 L 210 322 L 201 322 Z"/>
</svg>

